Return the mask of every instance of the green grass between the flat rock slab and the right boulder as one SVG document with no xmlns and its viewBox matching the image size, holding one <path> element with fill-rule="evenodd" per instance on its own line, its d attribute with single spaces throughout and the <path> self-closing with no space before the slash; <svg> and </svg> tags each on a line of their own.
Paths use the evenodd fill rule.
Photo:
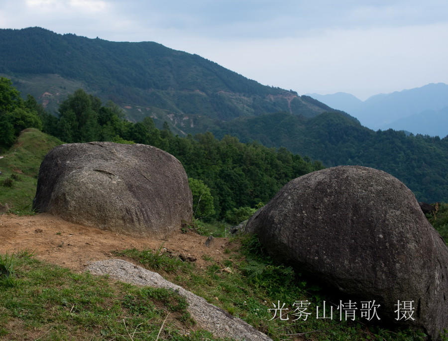
<svg viewBox="0 0 448 341">
<path fill-rule="evenodd" d="M 262 248 L 255 237 L 239 236 L 234 241 L 242 244 L 241 249 L 226 253 L 228 258 L 221 263 L 204 255 L 203 259 L 208 262 L 205 269 L 192 267 L 188 262 L 172 266 L 172 259 L 176 257 L 158 251 L 129 249 L 118 254 L 131 257 L 153 271 L 163 268 L 168 280 L 245 320 L 274 340 L 293 340 L 299 336 L 305 340 L 423 340 L 424 334 L 418 331 L 391 330 L 367 325 L 365 320 L 316 319 L 316 307 L 321 306 L 322 310 L 323 301 L 336 302 L 335 297 L 307 283 L 292 268 L 274 264 L 260 251 Z M 155 255 L 156 261 L 153 260 Z M 147 261 L 148 258 L 151 261 Z M 169 265 L 169 270 L 165 264 Z M 273 304 L 286 303 L 291 308 L 298 301 L 310 303 L 308 311 L 313 314 L 309 319 L 292 321 L 291 311 L 287 321 L 282 321 L 278 315 L 274 319 Z M 327 306 L 327 314 L 328 309 Z"/>
</svg>

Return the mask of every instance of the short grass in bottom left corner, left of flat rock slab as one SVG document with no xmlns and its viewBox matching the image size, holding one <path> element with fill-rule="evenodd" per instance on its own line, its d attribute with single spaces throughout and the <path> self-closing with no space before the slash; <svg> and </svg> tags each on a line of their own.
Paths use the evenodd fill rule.
<svg viewBox="0 0 448 341">
<path fill-rule="evenodd" d="M 0 340 L 207 340 L 185 298 L 77 274 L 22 251 L 1 256 Z"/>
</svg>

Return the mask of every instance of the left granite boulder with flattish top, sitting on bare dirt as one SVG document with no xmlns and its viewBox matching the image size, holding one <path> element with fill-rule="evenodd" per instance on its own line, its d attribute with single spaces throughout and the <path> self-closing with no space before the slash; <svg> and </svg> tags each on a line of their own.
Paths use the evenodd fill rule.
<svg viewBox="0 0 448 341">
<path fill-rule="evenodd" d="M 33 208 L 120 233 L 164 237 L 191 221 L 182 164 L 144 144 L 63 144 L 44 158 Z"/>
</svg>

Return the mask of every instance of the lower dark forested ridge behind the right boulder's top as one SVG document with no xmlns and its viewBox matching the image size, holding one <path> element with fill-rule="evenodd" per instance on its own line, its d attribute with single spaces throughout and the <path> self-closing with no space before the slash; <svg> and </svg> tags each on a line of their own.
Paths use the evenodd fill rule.
<svg viewBox="0 0 448 341">
<path fill-rule="evenodd" d="M 327 167 L 361 165 L 400 179 L 419 201 L 448 201 L 448 137 L 373 131 L 338 113 L 305 119 L 288 113 L 240 117 L 212 129 L 319 159 Z"/>
</svg>

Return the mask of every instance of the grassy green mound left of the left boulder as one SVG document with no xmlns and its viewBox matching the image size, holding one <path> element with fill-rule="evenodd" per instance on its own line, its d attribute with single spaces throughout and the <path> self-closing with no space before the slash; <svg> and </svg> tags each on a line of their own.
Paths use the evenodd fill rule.
<svg viewBox="0 0 448 341">
<path fill-rule="evenodd" d="M 49 150 L 62 143 L 37 129 L 23 130 L 15 144 L 1 155 L 0 204 L 6 203 L 15 214 L 31 214 L 40 163 Z M 5 181 L 11 186 L 5 186 Z"/>
</svg>

